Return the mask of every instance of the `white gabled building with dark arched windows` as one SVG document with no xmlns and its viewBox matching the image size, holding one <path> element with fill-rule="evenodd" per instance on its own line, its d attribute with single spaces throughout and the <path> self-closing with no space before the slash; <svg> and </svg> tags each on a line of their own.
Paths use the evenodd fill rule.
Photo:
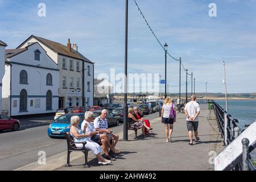
<svg viewBox="0 0 256 182">
<path fill-rule="evenodd" d="M 58 68 L 39 43 L 6 50 L 2 109 L 10 116 L 55 113 Z"/>
</svg>

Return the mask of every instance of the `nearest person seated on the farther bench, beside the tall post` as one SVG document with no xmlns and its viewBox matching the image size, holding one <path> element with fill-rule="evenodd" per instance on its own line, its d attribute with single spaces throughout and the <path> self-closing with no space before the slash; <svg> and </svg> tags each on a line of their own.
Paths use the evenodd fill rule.
<svg viewBox="0 0 256 182">
<path fill-rule="evenodd" d="M 146 137 L 145 129 L 150 130 L 150 127 L 147 127 L 146 123 L 143 122 L 143 119 L 136 119 L 134 116 L 134 110 L 133 108 L 129 108 L 129 114 L 128 114 L 128 123 L 131 126 L 137 127 L 137 129 L 142 129 L 142 136 Z"/>
</svg>

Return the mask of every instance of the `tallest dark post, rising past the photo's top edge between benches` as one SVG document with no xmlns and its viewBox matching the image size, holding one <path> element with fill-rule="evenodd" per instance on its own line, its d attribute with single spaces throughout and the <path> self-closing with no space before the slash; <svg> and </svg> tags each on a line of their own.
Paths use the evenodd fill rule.
<svg viewBox="0 0 256 182">
<path fill-rule="evenodd" d="M 128 140 L 128 107 L 127 107 L 127 55 L 128 55 L 128 0 L 125 3 L 125 104 L 123 105 L 123 140 Z"/>
</svg>

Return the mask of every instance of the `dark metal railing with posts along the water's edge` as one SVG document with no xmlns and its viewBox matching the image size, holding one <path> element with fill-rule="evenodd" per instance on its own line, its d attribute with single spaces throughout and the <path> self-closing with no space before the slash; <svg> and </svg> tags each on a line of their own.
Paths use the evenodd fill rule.
<svg viewBox="0 0 256 182">
<path fill-rule="evenodd" d="M 217 102 L 212 101 L 213 110 L 218 122 L 218 128 L 221 132 L 221 137 L 224 139 L 224 145 L 228 146 L 234 139 L 236 139 L 246 127 L 240 125 L 237 119 L 232 118 Z M 226 132 L 225 132 L 225 119 L 226 119 Z M 247 125 L 248 126 L 248 125 Z M 234 168 L 236 171 L 255 171 L 254 165 L 250 161 L 250 152 L 254 150 L 253 147 L 249 147 L 249 140 L 247 138 L 242 140 L 243 152 L 242 161 Z"/>
</svg>

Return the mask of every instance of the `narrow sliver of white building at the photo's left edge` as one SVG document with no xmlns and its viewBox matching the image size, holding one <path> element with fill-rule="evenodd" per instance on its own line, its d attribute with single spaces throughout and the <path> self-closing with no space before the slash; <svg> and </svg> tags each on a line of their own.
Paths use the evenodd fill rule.
<svg viewBox="0 0 256 182">
<path fill-rule="evenodd" d="M 5 47 L 6 43 L 0 40 L 0 114 L 2 111 L 2 78 L 5 75 Z"/>
</svg>

